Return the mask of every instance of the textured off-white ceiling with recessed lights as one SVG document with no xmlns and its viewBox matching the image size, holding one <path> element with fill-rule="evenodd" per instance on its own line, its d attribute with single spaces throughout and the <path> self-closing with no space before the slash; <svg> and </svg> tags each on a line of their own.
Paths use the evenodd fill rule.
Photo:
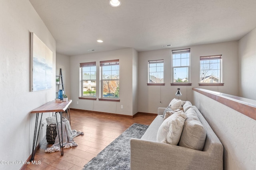
<svg viewBox="0 0 256 170">
<path fill-rule="evenodd" d="M 256 27 L 256 0 L 121 0 L 118 8 L 108 0 L 30 2 L 56 40 L 56 52 L 70 56 L 234 41 Z"/>
</svg>

